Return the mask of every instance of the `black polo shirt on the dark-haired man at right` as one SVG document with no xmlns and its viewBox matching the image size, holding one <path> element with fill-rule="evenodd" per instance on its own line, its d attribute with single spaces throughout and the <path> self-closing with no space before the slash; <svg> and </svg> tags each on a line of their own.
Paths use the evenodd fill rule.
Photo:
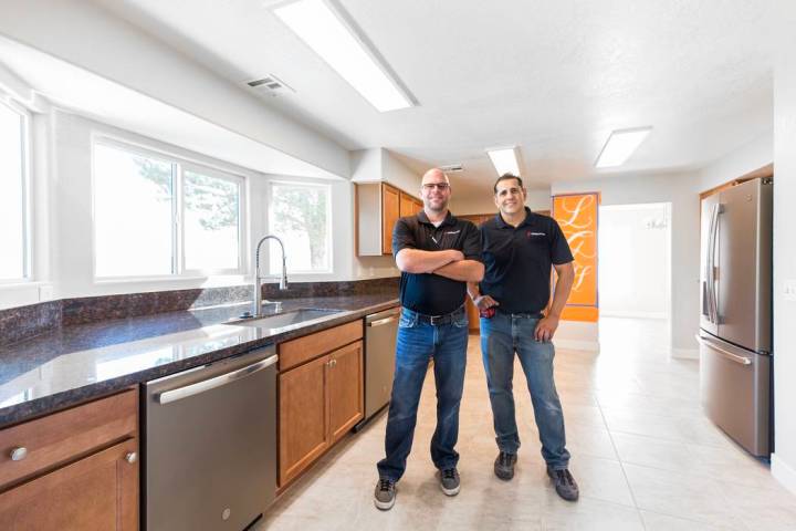
<svg viewBox="0 0 796 531">
<path fill-rule="evenodd" d="M 573 261 L 569 244 L 555 219 L 525 207 L 514 228 L 500 212 L 481 226 L 484 278 L 481 293 L 507 313 L 537 313 L 549 301 L 551 267 Z"/>
</svg>

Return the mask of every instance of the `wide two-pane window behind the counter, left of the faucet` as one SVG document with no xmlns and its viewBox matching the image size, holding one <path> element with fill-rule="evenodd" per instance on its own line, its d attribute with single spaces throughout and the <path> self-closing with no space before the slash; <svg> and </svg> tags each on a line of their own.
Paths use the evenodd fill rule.
<svg viewBox="0 0 796 531">
<path fill-rule="evenodd" d="M 241 177 L 96 142 L 95 277 L 242 273 L 242 195 Z"/>
</svg>

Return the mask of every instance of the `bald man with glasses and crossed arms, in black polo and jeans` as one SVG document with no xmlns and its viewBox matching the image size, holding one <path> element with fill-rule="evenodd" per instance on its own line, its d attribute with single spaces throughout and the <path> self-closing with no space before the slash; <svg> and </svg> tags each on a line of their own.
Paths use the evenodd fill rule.
<svg viewBox="0 0 796 531">
<path fill-rule="evenodd" d="M 392 397 L 385 436 L 386 457 L 378 465 L 375 504 L 392 508 L 396 483 L 406 470 L 417 409 L 429 361 L 437 385 L 437 429 L 431 460 L 447 496 L 459 493 L 459 403 L 464 387 L 468 319 L 467 282 L 483 278 L 481 237 L 473 223 L 448 210 L 451 186 L 438 168 L 422 177 L 423 209 L 400 218 L 392 231 L 392 254 L 401 271 Z"/>
</svg>

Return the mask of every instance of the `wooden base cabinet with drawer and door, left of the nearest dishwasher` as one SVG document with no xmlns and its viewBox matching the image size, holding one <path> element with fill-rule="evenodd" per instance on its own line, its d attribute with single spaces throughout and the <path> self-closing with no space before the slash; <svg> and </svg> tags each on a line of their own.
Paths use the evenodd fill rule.
<svg viewBox="0 0 796 531">
<path fill-rule="evenodd" d="M 137 530 L 137 426 L 130 389 L 0 430 L 0 529 Z"/>
</svg>

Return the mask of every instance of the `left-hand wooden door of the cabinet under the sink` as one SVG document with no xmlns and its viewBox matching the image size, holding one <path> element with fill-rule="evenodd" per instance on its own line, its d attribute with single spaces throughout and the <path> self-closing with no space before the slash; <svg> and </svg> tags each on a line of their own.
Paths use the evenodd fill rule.
<svg viewBox="0 0 796 531">
<path fill-rule="evenodd" d="M 328 447 L 328 361 L 321 356 L 280 374 L 280 487 Z"/>
</svg>

